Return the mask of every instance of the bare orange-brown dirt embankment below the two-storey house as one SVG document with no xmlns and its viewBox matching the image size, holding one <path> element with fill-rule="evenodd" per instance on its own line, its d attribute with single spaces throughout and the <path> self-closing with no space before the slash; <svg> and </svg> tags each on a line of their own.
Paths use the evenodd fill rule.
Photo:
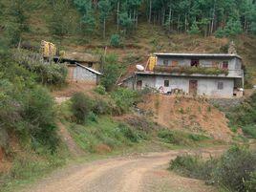
<svg viewBox="0 0 256 192">
<path fill-rule="evenodd" d="M 146 96 L 139 104 L 144 111 L 151 111 L 152 118 L 161 126 L 194 133 L 214 139 L 230 140 L 232 132 L 228 119 L 204 98 L 185 96 Z"/>
</svg>

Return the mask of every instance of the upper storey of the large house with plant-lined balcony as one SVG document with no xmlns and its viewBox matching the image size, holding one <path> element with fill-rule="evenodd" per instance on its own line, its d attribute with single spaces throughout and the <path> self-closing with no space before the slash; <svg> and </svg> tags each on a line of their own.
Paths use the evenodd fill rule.
<svg viewBox="0 0 256 192">
<path fill-rule="evenodd" d="M 154 53 L 156 73 L 243 77 L 242 58 L 227 53 Z"/>
</svg>

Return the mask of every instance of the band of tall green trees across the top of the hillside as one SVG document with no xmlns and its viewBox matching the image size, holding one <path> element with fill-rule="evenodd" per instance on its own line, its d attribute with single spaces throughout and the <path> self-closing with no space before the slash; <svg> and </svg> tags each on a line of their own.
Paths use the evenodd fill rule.
<svg viewBox="0 0 256 192">
<path fill-rule="evenodd" d="M 46 12 L 49 31 L 58 37 L 111 31 L 123 37 L 140 23 L 159 26 L 166 33 L 190 33 L 217 37 L 256 32 L 255 0 L 44 0 L 0 1 L 0 32 L 12 43 L 30 31 L 32 11 Z"/>
</svg>

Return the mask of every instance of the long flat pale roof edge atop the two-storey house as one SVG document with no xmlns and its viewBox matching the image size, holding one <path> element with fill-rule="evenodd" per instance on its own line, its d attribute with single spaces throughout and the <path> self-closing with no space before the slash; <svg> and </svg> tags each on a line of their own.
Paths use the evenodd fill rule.
<svg viewBox="0 0 256 192">
<path fill-rule="evenodd" d="M 193 57 L 201 57 L 201 58 L 232 58 L 237 57 L 241 58 L 238 54 L 229 54 L 229 53 L 154 53 L 156 56 L 162 57 L 186 57 L 186 58 L 193 58 Z"/>
</svg>

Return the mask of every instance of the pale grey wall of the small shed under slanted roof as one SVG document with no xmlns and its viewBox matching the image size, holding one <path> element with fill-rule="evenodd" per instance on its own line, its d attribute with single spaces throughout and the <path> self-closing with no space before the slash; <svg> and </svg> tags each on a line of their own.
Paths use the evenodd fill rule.
<svg viewBox="0 0 256 192">
<path fill-rule="evenodd" d="M 88 81 L 93 83 L 96 83 L 98 81 L 98 77 L 96 74 L 79 66 L 75 67 L 73 73 L 74 79 L 78 81 Z"/>
</svg>

